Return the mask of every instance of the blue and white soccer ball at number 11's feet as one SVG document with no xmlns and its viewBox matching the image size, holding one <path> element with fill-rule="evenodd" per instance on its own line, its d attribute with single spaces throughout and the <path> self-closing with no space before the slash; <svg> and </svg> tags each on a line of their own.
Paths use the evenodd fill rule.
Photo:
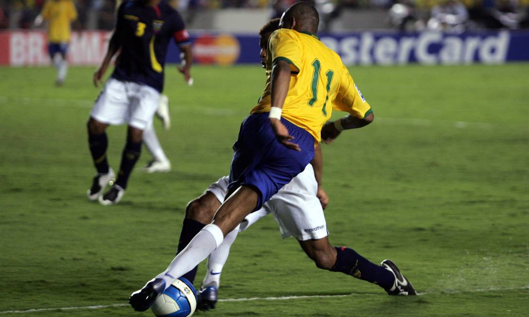
<svg viewBox="0 0 529 317">
<path fill-rule="evenodd" d="M 197 292 L 187 279 L 180 277 L 163 292 L 151 306 L 158 317 L 187 317 L 197 307 Z"/>
</svg>

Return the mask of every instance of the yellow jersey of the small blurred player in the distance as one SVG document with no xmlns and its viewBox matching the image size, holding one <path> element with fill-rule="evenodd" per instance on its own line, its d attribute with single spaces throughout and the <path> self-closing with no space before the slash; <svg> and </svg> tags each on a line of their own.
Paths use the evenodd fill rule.
<svg viewBox="0 0 529 317">
<path fill-rule="evenodd" d="M 70 41 L 70 23 L 77 18 L 77 10 L 72 0 L 48 0 L 42 9 L 42 17 L 48 20 L 49 42 Z"/>
</svg>

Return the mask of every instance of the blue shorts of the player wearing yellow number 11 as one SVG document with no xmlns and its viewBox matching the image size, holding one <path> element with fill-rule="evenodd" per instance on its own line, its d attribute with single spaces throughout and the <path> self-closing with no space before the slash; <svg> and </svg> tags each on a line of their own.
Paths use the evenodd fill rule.
<svg viewBox="0 0 529 317">
<path fill-rule="evenodd" d="M 301 151 L 282 145 L 273 133 L 268 113 L 249 115 L 244 119 L 239 138 L 233 145 L 230 185 L 238 188 L 248 185 L 257 189 L 259 199 L 255 210 L 303 172 L 314 157 L 314 138 L 306 130 L 281 118 L 288 133 L 294 137 Z"/>
</svg>

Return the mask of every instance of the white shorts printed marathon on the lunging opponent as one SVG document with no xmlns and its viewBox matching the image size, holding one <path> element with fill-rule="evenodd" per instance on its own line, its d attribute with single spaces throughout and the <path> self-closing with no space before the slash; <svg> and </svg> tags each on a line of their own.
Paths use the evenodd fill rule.
<svg viewBox="0 0 529 317">
<path fill-rule="evenodd" d="M 211 192 L 219 201 L 224 201 L 229 180 L 227 176 L 209 185 L 205 192 Z M 311 164 L 293 178 L 263 208 L 250 213 L 237 228 L 244 231 L 257 220 L 269 213 L 279 224 L 283 238 L 293 236 L 297 240 L 321 239 L 327 236 L 327 223 L 320 200 L 316 197 L 318 185 Z"/>
</svg>

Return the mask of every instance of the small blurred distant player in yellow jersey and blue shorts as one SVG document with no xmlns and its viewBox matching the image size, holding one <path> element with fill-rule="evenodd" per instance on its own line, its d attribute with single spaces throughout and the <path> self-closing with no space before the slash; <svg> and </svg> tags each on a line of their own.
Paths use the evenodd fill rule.
<svg viewBox="0 0 529 317">
<path fill-rule="evenodd" d="M 57 86 L 65 81 L 68 71 L 68 43 L 70 42 L 71 22 L 77 19 L 77 10 L 73 0 L 48 0 L 41 14 L 35 18 L 39 26 L 43 20 L 48 21 L 48 52 L 55 68 L 57 68 Z"/>
</svg>

